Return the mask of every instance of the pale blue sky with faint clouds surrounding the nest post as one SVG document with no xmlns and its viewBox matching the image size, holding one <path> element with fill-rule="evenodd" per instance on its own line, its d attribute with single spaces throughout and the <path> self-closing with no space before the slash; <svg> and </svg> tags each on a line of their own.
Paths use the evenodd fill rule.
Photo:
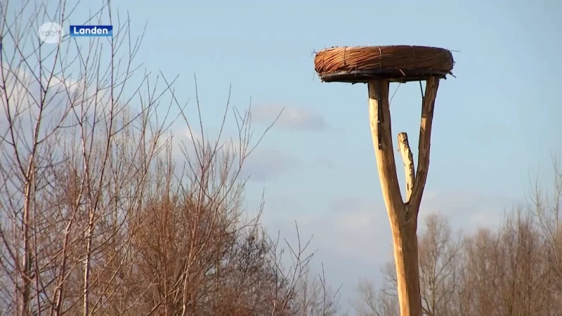
<svg viewBox="0 0 562 316">
<path fill-rule="evenodd" d="M 81 6 L 70 22 L 81 24 L 95 7 Z M 344 283 L 344 300 L 358 279 L 379 278 L 391 235 L 367 87 L 322 84 L 313 51 L 393 44 L 454 51 L 457 78 L 441 81 L 436 101 L 422 218 L 441 211 L 457 228 L 494 225 L 537 173 L 549 179 L 551 152 L 562 148 L 560 1 L 119 0 L 114 9 L 129 12 L 133 35 L 148 22 L 138 61 L 180 74 L 180 100 L 194 98 L 197 74 L 207 128 L 218 128 L 229 84 L 238 107 L 251 97 L 258 130 L 285 107 L 249 160 L 247 203 L 255 208 L 265 188 L 270 230 L 292 235 L 298 220 L 304 235 L 314 233 L 315 267 L 322 261 L 329 281 Z M 400 85 L 394 137 L 407 132 L 414 152 L 420 109 L 418 84 Z"/>
</svg>

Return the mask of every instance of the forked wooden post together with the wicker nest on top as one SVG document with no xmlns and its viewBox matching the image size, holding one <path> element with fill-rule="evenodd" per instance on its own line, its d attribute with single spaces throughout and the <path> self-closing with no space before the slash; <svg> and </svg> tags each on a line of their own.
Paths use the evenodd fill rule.
<svg viewBox="0 0 562 316">
<path fill-rule="evenodd" d="M 421 316 L 417 217 L 429 169 L 431 123 L 439 80 L 450 74 L 453 64 L 450 51 L 424 46 L 336 47 L 315 56 L 315 69 L 322 81 L 368 85 L 371 133 L 382 195 L 391 224 L 402 316 Z M 406 176 L 405 199 L 398 184 L 392 142 L 388 105 L 391 81 L 426 81 L 421 100 L 417 171 L 407 134 L 398 134 Z"/>
</svg>

